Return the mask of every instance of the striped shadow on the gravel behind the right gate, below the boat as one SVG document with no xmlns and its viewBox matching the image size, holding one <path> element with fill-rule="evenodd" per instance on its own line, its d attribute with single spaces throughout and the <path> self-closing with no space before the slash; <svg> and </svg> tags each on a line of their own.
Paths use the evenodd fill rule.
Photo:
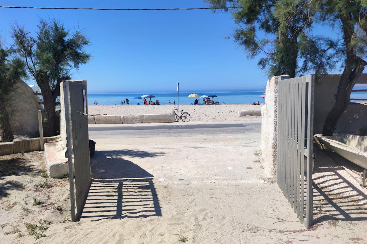
<svg viewBox="0 0 367 244">
<path fill-rule="evenodd" d="M 323 160 L 316 161 L 314 169 L 313 223 L 367 220 L 367 195 L 339 173 L 344 170 L 340 165 L 356 171 L 361 167 L 333 152 L 316 153 L 316 159 Z"/>
</svg>

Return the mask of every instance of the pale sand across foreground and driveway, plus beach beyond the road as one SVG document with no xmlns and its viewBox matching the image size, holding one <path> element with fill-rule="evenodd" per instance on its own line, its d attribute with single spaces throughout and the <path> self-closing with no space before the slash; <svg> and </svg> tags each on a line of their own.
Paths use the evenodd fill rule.
<svg viewBox="0 0 367 244">
<path fill-rule="evenodd" d="M 112 105 L 88 109 L 90 115 L 139 115 L 169 113 L 173 108 L 173 105 Z M 191 121 L 243 121 L 250 128 L 251 123 L 261 120 L 259 116 L 237 117 L 239 110 L 261 109 L 255 105 L 179 108 L 191 114 Z M 228 135 L 183 133 L 166 137 L 159 133 L 150 138 L 121 135 L 119 143 L 116 143 L 118 136 L 101 135 L 103 140 L 96 139 L 96 155 L 91 159 L 94 177 L 99 172 L 94 165 L 98 161 L 105 164 L 106 172 L 100 173 L 105 179 L 111 179 L 108 172 L 117 171 L 107 168 L 113 169 L 114 163 L 130 164 L 135 170 L 140 167 L 154 178 L 152 181 L 140 178 L 131 183 L 126 179 L 94 180 L 91 199 L 87 200 L 84 218 L 79 222 L 70 222 L 68 179 L 48 179 L 50 188 L 39 187 L 45 181 L 39 176 L 40 170 L 46 169 L 43 152 L 1 156 L 0 169 L 4 172 L 0 172 L 0 243 L 178 244 L 186 238 L 186 243 L 197 244 L 345 244 L 367 240 L 367 190 L 337 165 L 319 166 L 316 161 L 315 184 L 326 193 L 334 188 L 340 192 L 331 192 L 329 199 L 320 198 L 315 192 L 316 222 L 307 230 L 295 216 L 276 179 L 264 173 L 258 128 L 256 132 L 249 129 Z M 203 143 L 207 138 L 210 139 Z M 125 168 L 119 169 L 124 172 Z M 194 172 L 200 177 L 191 177 L 188 185 L 180 184 L 177 183 L 180 172 L 186 176 Z M 166 177 L 166 181 L 159 181 L 160 177 Z M 343 182 L 334 183 L 335 179 Z M 350 186 L 349 181 L 354 185 Z M 340 188 L 345 182 L 348 184 Z M 41 200 L 41 204 L 33 206 L 34 198 Z M 25 224 L 37 224 L 40 219 L 46 220 L 47 236 L 36 241 Z M 18 236 L 19 233 L 25 236 Z"/>
</svg>

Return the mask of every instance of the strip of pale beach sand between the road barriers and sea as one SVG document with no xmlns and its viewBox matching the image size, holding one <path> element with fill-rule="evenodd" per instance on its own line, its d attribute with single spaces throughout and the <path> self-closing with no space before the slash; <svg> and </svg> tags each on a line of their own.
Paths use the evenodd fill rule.
<svg viewBox="0 0 367 244">
<path fill-rule="evenodd" d="M 220 104 L 220 105 L 179 105 L 179 109 L 188 112 L 190 122 L 222 122 L 239 121 L 237 118 L 240 110 L 261 110 L 262 105 L 248 104 Z M 91 105 L 88 106 L 89 115 L 154 115 L 171 113 L 177 105 Z"/>
</svg>

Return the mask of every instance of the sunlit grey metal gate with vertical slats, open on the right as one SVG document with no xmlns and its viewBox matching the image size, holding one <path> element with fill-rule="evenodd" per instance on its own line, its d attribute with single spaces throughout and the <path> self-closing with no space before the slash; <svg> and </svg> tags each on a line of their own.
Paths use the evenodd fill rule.
<svg viewBox="0 0 367 244">
<path fill-rule="evenodd" d="M 312 224 L 314 79 L 278 82 L 277 184 L 306 227 Z"/>
</svg>

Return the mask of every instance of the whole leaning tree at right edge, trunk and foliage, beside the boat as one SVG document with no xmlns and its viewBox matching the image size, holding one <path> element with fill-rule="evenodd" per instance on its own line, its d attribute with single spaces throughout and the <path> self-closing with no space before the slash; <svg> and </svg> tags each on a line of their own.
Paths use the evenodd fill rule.
<svg viewBox="0 0 367 244">
<path fill-rule="evenodd" d="M 344 56 L 344 70 L 339 80 L 335 104 L 323 125 L 323 135 L 333 135 L 337 122 L 349 105 L 350 93 L 362 74 L 367 62 L 367 1 L 327 0 L 323 2 L 325 17 L 337 22 L 342 30 L 342 49 L 338 55 Z"/>
</svg>

